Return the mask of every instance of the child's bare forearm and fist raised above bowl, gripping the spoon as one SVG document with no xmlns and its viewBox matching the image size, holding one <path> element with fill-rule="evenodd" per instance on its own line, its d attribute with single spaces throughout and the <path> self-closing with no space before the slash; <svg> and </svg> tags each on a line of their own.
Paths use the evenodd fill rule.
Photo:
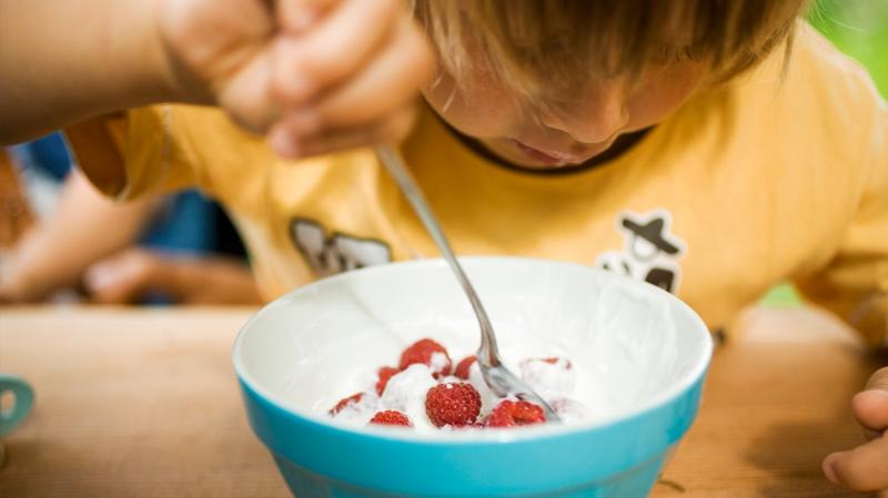
<svg viewBox="0 0 888 498">
<path fill-rule="evenodd" d="M 331 152 L 403 136 L 433 69 L 400 0 L 0 0 L 0 143 L 183 102 Z"/>
</svg>

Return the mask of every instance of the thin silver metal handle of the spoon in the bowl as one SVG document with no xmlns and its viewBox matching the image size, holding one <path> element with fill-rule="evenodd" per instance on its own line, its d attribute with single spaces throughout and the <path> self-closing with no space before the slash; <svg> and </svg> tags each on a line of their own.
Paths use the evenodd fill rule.
<svg viewBox="0 0 888 498">
<path fill-rule="evenodd" d="M 425 225 L 425 230 L 432 235 L 432 240 L 435 241 L 444 260 L 446 260 L 453 273 L 456 274 L 460 285 L 463 286 L 463 291 L 465 291 L 470 303 L 472 303 L 472 307 L 475 309 L 475 316 L 481 326 L 478 362 L 483 362 L 484 365 L 490 367 L 500 366 L 500 350 L 496 347 L 496 337 L 493 334 L 493 327 L 491 326 L 490 318 L 487 318 L 487 313 L 484 311 L 484 306 L 482 306 L 481 299 L 475 293 L 475 288 L 472 287 L 472 283 L 468 282 L 468 277 L 465 275 L 465 272 L 463 272 L 463 267 L 460 266 L 460 262 L 456 261 L 456 256 L 451 250 L 447 237 L 444 236 L 444 232 L 441 230 L 441 225 L 438 225 L 434 213 L 432 213 L 432 209 L 425 201 L 425 196 L 416 185 L 416 182 L 413 181 L 410 171 L 407 171 L 407 167 L 404 165 L 397 152 L 389 145 L 380 145 L 376 148 L 376 154 L 380 156 L 392 177 L 395 179 L 401 191 L 420 216 L 423 225 Z"/>
</svg>

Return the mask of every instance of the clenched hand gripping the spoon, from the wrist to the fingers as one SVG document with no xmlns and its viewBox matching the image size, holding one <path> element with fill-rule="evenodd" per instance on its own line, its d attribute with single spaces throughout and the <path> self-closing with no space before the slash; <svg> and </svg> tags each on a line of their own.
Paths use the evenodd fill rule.
<svg viewBox="0 0 888 498">
<path fill-rule="evenodd" d="M 433 70 L 402 0 L 167 0 L 160 19 L 188 100 L 287 157 L 402 139 Z"/>
</svg>

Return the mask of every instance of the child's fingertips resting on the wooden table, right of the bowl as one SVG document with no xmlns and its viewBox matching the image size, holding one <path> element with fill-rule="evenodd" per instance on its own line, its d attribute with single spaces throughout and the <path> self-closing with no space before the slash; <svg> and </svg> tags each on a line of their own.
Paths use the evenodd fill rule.
<svg viewBox="0 0 888 498">
<path fill-rule="evenodd" d="M 829 480 L 858 491 L 888 489 L 888 367 L 876 372 L 851 404 L 870 441 L 829 455 L 824 472 Z"/>
</svg>

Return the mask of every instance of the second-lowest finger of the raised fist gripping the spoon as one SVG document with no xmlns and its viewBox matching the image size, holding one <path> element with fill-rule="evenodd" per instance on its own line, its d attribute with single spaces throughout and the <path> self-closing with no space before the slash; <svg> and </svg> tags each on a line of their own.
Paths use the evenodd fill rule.
<svg viewBox="0 0 888 498">
<path fill-rule="evenodd" d="M 420 29 L 404 20 L 396 38 L 360 74 L 297 112 L 309 132 L 366 125 L 413 102 L 432 72 L 431 49 Z"/>
</svg>

